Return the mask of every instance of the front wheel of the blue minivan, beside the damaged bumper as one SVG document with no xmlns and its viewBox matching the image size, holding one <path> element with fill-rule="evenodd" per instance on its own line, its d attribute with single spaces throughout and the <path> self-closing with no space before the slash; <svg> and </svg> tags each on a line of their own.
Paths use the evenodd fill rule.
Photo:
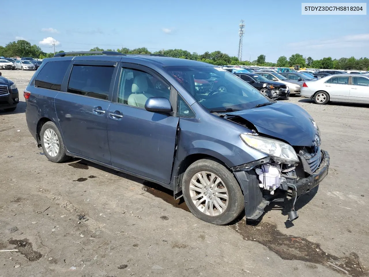
<svg viewBox="0 0 369 277">
<path fill-rule="evenodd" d="M 182 192 L 193 215 L 208 223 L 228 224 L 245 208 L 234 175 L 214 160 L 202 159 L 191 164 L 183 175 Z"/>
</svg>

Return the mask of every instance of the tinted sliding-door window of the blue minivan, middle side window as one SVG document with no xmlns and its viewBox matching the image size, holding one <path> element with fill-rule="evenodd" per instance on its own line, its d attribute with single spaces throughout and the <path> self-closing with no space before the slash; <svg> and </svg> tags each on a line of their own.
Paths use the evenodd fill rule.
<svg viewBox="0 0 369 277">
<path fill-rule="evenodd" d="M 74 65 L 67 92 L 108 100 L 114 66 Z"/>
</svg>

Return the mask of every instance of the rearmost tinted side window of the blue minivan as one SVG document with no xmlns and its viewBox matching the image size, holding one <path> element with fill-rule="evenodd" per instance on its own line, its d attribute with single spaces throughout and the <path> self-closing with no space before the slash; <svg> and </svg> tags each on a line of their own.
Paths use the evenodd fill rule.
<svg viewBox="0 0 369 277">
<path fill-rule="evenodd" d="M 65 72 L 70 61 L 48 62 L 35 79 L 35 86 L 45 89 L 60 90 Z"/>
</svg>

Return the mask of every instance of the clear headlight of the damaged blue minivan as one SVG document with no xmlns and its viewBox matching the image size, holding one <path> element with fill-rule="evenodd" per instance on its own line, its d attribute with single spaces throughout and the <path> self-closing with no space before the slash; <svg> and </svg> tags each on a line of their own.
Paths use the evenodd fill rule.
<svg viewBox="0 0 369 277">
<path fill-rule="evenodd" d="M 276 157 L 284 163 L 295 163 L 299 161 L 296 151 L 287 143 L 253 134 L 241 134 L 240 137 L 248 146 L 272 157 Z"/>
</svg>

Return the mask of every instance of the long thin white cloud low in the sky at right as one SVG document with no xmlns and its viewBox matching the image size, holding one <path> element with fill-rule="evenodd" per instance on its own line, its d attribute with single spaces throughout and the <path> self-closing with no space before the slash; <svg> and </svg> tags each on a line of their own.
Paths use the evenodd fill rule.
<svg viewBox="0 0 369 277">
<path fill-rule="evenodd" d="M 329 40 L 310 40 L 292 42 L 287 46 L 292 48 L 345 48 L 363 47 L 369 44 L 369 34 L 346 35 L 344 37 L 332 38 Z"/>
</svg>

